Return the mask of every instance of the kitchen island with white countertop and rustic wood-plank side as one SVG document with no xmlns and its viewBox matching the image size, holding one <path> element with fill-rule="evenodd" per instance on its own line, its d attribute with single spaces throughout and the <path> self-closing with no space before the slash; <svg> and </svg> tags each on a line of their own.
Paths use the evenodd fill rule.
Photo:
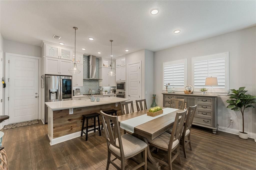
<svg viewBox="0 0 256 170">
<path fill-rule="evenodd" d="M 79 137 L 82 127 L 82 115 L 84 114 L 115 109 L 118 116 L 122 115 L 120 102 L 127 100 L 129 99 L 107 97 L 100 98 L 99 102 L 96 102 L 96 100 L 91 102 L 90 99 L 45 102 L 48 106 L 48 137 L 50 145 Z M 93 119 L 88 122 L 88 126 L 91 125 L 93 125 Z"/>
</svg>

